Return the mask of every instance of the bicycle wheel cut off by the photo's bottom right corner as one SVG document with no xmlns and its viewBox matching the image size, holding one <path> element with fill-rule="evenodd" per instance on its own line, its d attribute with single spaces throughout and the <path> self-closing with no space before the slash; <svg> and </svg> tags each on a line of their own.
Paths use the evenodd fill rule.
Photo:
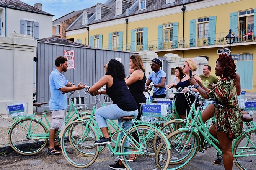
<svg viewBox="0 0 256 170">
<path fill-rule="evenodd" d="M 256 169 L 256 129 L 249 130 L 234 144 L 235 165 L 240 170 Z"/>
</svg>

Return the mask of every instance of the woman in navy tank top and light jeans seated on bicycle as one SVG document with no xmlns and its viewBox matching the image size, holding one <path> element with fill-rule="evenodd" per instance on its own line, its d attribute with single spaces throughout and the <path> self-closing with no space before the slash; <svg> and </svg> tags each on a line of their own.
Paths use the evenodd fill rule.
<svg viewBox="0 0 256 170">
<path fill-rule="evenodd" d="M 93 85 L 90 89 L 90 93 L 95 94 L 107 94 L 113 104 L 101 107 L 96 110 L 95 118 L 98 123 L 103 137 L 95 144 L 111 144 L 111 137 L 108 132 L 106 119 L 118 119 L 119 125 L 121 124 L 121 117 L 138 115 L 138 108 L 135 99 L 132 97 L 126 82 L 124 81 L 125 73 L 122 63 L 115 59 L 111 59 L 105 66 L 106 74 Z M 106 85 L 106 90 L 99 90 L 102 86 Z M 124 123 L 124 128 L 129 129 L 132 126 L 132 121 Z M 121 134 L 121 138 L 124 134 Z M 129 141 L 126 142 L 126 146 L 129 146 Z M 116 162 L 114 165 L 110 165 L 110 168 L 125 169 L 122 161 Z"/>
</svg>

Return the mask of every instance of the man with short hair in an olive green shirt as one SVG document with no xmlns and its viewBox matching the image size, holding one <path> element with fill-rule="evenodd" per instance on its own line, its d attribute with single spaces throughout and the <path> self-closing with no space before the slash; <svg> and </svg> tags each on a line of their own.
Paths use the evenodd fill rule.
<svg viewBox="0 0 256 170">
<path fill-rule="evenodd" d="M 205 87 L 210 88 L 212 84 L 216 84 L 218 82 L 218 78 L 215 75 L 211 75 L 211 66 L 204 65 L 203 67 L 203 74 L 199 75 L 202 79 L 203 84 Z"/>
</svg>

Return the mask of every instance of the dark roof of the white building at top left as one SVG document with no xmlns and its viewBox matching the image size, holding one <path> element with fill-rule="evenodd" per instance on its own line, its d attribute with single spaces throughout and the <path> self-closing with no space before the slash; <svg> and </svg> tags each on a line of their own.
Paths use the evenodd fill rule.
<svg viewBox="0 0 256 170">
<path fill-rule="evenodd" d="M 54 16 L 52 14 L 49 14 L 42 10 L 39 10 L 38 8 L 35 8 L 34 6 L 30 6 L 24 2 L 19 1 L 19 0 L 0 0 L 0 6 L 12 8 L 12 9 L 16 9 L 16 10 L 29 11 L 32 13 Z"/>
</svg>

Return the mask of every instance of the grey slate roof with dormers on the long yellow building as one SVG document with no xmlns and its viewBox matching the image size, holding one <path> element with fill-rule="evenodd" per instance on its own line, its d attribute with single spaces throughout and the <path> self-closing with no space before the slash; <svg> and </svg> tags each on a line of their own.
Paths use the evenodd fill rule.
<svg viewBox="0 0 256 170">
<path fill-rule="evenodd" d="M 129 8 L 131 8 L 131 6 L 134 5 L 137 0 L 125 0 L 125 1 L 132 2 L 132 4 L 129 6 Z M 202 0 L 186 0 L 186 3 L 192 3 L 192 2 L 197 2 L 197 1 L 202 1 Z M 98 3 L 98 4 L 103 6 L 103 4 L 101 4 L 101 3 Z M 139 5 L 137 3 L 137 6 L 133 9 L 133 11 L 131 11 L 129 16 L 142 14 L 142 13 L 148 13 L 148 12 L 152 12 L 152 11 L 156 11 L 156 10 L 162 10 L 165 8 L 172 8 L 174 6 L 181 6 L 181 5 L 183 5 L 183 0 L 176 0 L 176 2 L 168 3 L 168 4 L 166 4 L 166 0 L 152 0 L 152 2 L 147 6 L 147 8 L 145 10 L 139 10 Z M 104 5 L 104 6 L 106 6 L 106 5 Z M 126 18 L 126 11 L 124 11 L 124 13 L 122 13 L 121 15 L 115 16 L 115 14 L 116 14 L 115 0 L 111 0 L 111 2 L 109 2 L 107 4 L 107 6 L 111 7 L 111 10 L 109 10 L 108 13 L 106 13 L 99 20 L 95 20 L 95 16 L 94 16 L 94 18 L 91 19 L 91 21 L 90 21 L 90 23 L 88 23 L 88 25 L 96 24 L 96 23 L 104 22 L 104 21 L 111 21 L 111 20 L 119 19 L 119 18 Z M 94 8 L 94 10 L 95 10 L 95 8 Z M 73 22 L 72 26 L 69 27 L 67 31 L 85 28 L 86 25 L 82 25 L 82 23 L 83 23 L 82 17 L 77 18 L 77 20 L 75 22 Z"/>
</svg>

